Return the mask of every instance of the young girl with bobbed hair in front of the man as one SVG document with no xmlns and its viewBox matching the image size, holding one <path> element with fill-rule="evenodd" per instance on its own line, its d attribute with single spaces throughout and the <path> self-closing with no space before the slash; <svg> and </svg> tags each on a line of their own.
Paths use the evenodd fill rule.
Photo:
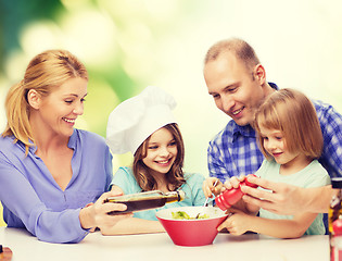
<svg viewBox="0 0 342 261">
<path fill-rule="evenodd" d="M 275 91 L 257 110 L 254 128 L 265 160 L 257 176 L 301 187 L 318 187 L 330 184 L 327 171 L 316 160 L 322 148 L 322 135 L 312 102 L 300 91 Z M 244 177 L 231 177 L 226 188 L 238 187 Z M 303 213 L 278 215 L 246 204 L 242 200 L 231 209 L 233 214 L 218 229 L 226 227 L 230 234 L 248 231 L 279 238 L 296 238 L 302 235 L 322 235 L 322 214 Z M 241 211 L 242 210 L 242 211 Z M 259 211 L 259 216 L 255 214 Z"/>
</svg>

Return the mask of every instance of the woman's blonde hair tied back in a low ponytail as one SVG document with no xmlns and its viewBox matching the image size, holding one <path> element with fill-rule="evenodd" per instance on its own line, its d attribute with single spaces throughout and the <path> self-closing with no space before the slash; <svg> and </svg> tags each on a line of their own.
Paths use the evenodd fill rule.
<svg viewBox="0 0 342 261">
<path fill-rule="evenodd" d="M 34 89 L 41 97 L 47 97 L 66 80 L 76 77 L 88 80 L 88 72 L 71 52 L 48 50 L 36 55 L 29 62 L 24 79 L 12 86 L 7 95 L 4 105 L 8 123 L 2 137 L 13 135 L 15 141 L 25 145 L 27 154 L 29 147 L 35 144 L 29 124 L 28 91 Z"/>
</svg>

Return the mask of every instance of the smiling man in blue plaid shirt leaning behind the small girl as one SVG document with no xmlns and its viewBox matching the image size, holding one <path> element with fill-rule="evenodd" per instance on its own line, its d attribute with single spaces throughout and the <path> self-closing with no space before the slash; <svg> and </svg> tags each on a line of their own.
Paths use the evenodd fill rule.
<svg viewBox="0 0 342 261">
<path fill-rule="evenodd" d="M 208 170 L 213 178 L 207 185 L 213 189 L 216 178 L 224 183 L 231 176 L 254 173 L 261 166 L 264 157 L 252 127 L 254 112 L 278 87 L 266 82 L 265 69 L 253 48 L 241 39 L 223 40 L 210 48 L 204 78 L 216 107 L 232 119 L 208 146 Z M 325 139 L 319 162 L 331 177 L 342 176 L 342 115 L 331 105 L 319 101 L 314 104 Z M 295 214 L 303 209 L 327 212 L 333 195 L 331 186 L 300 188 L 262 178 L 249 178 L 249 182 L 273 192 L 244 186 L 243 199 L 279 214 Z"/>
</svg>

